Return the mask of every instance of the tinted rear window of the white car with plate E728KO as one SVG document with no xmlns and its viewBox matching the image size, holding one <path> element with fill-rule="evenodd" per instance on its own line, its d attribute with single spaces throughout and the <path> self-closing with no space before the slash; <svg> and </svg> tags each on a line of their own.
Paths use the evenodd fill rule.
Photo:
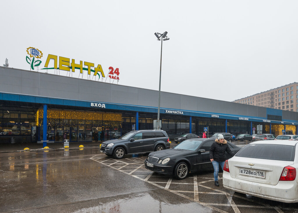
<svg viewBox="0 0 298 213">
<path fill-rule="evenodd" d="M 295 146 L 281 144 L 248 144 L 244 146 L 235 156 L 294 161 Z"/>
</svg>

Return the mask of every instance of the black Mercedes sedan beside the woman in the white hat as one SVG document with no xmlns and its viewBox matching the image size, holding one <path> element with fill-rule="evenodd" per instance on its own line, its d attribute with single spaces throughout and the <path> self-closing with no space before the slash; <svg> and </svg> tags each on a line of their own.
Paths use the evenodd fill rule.
<svg viewBox="0 0 298 213">
<path fill-rule="evenodd" d="M 190 172 L 212 169 L 209 158 L 209 149 L 214 139 L 194 138 L 188 139 L 173 149 L 151 152 L 145 159 L 145 168 L 166 175 L 174 175 L 181 180 Z M 228 142 L 229 148 L 236 154 L 241 147 Z M 226 153 L 227 159 L 232 156 Z"/>
</svg>

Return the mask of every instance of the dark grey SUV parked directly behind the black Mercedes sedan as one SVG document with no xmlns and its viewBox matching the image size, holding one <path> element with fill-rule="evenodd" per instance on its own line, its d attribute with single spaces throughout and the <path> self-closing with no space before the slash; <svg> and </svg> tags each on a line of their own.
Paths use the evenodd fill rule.
<svg viewBox="0 0 298 213">
<path fill-rule="evenodd" d="M 131 131 L 118 139 L 103 142 L 100 152 L 115 158 L 122 158 L 125 154 L 170 149 L 169 141 L 167 133 L 163 130 Z"/>
</svg>

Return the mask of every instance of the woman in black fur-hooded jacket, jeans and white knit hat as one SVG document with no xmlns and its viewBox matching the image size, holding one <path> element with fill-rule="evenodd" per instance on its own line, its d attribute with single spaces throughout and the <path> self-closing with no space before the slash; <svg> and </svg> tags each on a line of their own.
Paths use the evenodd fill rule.
<svg viewBox="0 0 298 213">
<path fill-rule="evenodd" d="M 212 162 L 214 168 L 214 184 L 215 186 L 219 186 L 218 183 L 218 171 L 219 165 L 224 169 L 224 162 L 226 161 L 226 152 L 232 156 L 234 156 L 234 152 L 228 146 L 228 143 L 224 139 L 222 134 L 218 134 L 218 138 L 215 139 L 215 142 L 212 143 L 209 151 L 210 161 Z"/>
</svg>

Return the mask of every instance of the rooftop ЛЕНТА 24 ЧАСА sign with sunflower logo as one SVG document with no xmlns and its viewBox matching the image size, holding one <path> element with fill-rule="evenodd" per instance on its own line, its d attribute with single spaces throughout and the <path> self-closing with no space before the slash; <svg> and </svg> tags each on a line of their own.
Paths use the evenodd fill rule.
<svg viewBox="0 0 298 213">
<path fill-rule="evenodd" d="M 42 51 L 40 51 L 37 48 L 34 47 L 29 47 L 27 48 L 27 54 L 30 55 L 30 57 L 26 56 L 26 61 L 28 64 L 30 64 L 30 69 L 34 70 L 35 67 L 38 67 L 41 65 L 42 61 L 40 60 L 41 57 L 43 57 Z M 51 60 L 54 60 L 54 67 L 48 67 L 49 63 Z M 59 64 L 58 64 L 59 62 Z M 84 67 L 83 67 L 84 65 Z M 75 63 L 75 59 L 72 59 L 70 62 L 70 58 L 62 57 L 52 54 L 48 54 L 48 57 L 46 59 L 46 63 L 44 64 L 45 68 L 42 68 L 41 70 L 65 70 L 72 72 L 75 72 L 75 70 L 80 70 L 80 73 L 83 74 L 83 70 L 86 70 L 88 75 L 91 75 L 91 72 L 93 72 L 94 76 L 98 75 L 100 78 L 100 74 L 102 78 L 105 78 L 105 74 L 103 72 L 103 68 L 100 64 L 97 64 L 97 67 L 94 66 L 94 63 L 84 61 L 80 61 L 79 64 Z M 109 73 L 108 73 L 108 78 L 114 79 L 114 80 L 119 80 L 119 68 L 116 68 L 114 70 L 113 67 L 109 67 Z"/>
</svg>

